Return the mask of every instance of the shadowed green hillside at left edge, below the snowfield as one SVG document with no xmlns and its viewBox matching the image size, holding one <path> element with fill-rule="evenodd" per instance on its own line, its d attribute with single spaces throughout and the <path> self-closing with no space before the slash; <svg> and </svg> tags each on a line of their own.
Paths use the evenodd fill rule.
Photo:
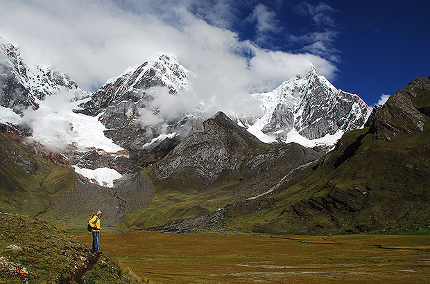
<svg viewBox="0 0 430 284">
<path fill-rule="evenodd" d="M 75 184 L 74 170 L 28 152 L 1 132 L 0 159 L 0 211 L 36 215 Z"/>
</svg>

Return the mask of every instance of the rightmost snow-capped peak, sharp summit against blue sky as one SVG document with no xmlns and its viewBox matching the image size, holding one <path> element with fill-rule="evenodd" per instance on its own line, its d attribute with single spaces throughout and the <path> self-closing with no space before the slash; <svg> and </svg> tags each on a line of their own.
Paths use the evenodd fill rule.
<svg viewBox="0 0 430 284">
<path fill-rule="evenodd" d="M 334 145 L 342 134 L 363 127 L 372 109 L 359 96 L 336 89 L 313 66 L 268 93 L 254 94 L 264 115 L 237 117 L 261 141 Z"/>
</svg>

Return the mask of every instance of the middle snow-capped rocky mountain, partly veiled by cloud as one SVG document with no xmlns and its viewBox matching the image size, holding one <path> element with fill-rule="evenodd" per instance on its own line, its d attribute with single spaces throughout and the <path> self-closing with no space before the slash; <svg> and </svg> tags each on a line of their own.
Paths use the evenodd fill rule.
<svg viewBox="0 0 430 284">
<path fill-rule="evenodd" d="M 105 132 L 107 137 L 123 147 L 139 150 L 155 137 L 166 131 L 173 133 L 192 120 L 189 116 L 161 125 L 146 123 L 139 114 L 139 110 L 146 109 L 156 115 L 159 110 L 151 108 L 151 103 L 157 91 L 166 91 L 174 96 L 189 87 L 189 76 L 193 75 L 179 64 L 178 59 L 161 55 L 157 60 L 144 62 L 137 68 L 130 68 L 120 76 L 107 80 L 91 100 L 80 105 L 82 109 L 77 112 L 99 115 L 98 119 L 109 129 Z"/>
</svg>

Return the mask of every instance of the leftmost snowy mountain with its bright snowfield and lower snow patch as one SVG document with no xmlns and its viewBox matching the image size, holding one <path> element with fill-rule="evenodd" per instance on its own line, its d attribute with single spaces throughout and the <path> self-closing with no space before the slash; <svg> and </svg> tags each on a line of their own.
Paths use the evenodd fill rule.
<svg viewBox="0 0 430 284">
<path fill-rule="evenodd" d="M 26 64 L 19 46 L 0 37 L 0 123 L 30 127 L 28 143 L 40 143 L 74 161 L 90 150 L 112 159 L 126 157 L 124 149 L 105 136 L 106 127 L 98 117 L 73 112 L 91 95 L 60 71 Z M 110 168 L 75 168 L 104 186 L 113 186 L 113 180 L 121 177 Z"/>
</svg>

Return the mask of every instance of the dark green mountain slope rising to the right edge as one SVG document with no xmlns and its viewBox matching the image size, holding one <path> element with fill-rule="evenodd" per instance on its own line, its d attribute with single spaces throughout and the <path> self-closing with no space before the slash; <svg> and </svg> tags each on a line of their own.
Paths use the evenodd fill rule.
<svg viewBox="0 0 430 284">
<path fill-rule="evenodd" d="M 429 82 L 417 78 L 398 91 L 369 128 L 345 134 L 336 150 L 303 181 L 232 206 L 230 227 L 299 234 L 426 231 Z M 407 107 L 402 108 L 402 103 Z M 413 112 L 408 111 L 411 108 Z"/>
</svg>

